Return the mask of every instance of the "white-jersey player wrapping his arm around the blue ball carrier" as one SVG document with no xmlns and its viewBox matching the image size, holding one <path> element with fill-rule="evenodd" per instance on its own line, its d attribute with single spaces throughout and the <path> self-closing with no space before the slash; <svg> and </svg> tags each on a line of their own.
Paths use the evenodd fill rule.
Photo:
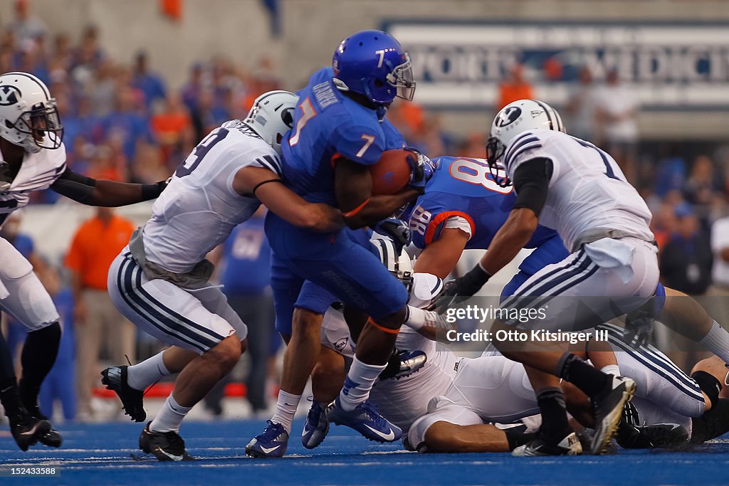
<svg viewBox="0 0 729 486">
<path fill-rule="evenodd" d="M 208 281 L 206 254 L 261 203 L 286 221 L 313 231 L 343 226 L 340 212 L 307 203 L 281 184 L 278 147 L 291 128 L 297 96 L 260 95 L 241 120 L 203 138 L 177 168 L 165 192 L 109 268 L 109 294 L 130 321 L 172 347 L 133 367 L 105 369 L 133 420 L 145 420 L 144 388 L 178 373 L 165 406 L 141 432 L 139 444 L 160 460 L 190 460 L 179 426 L 190 409 L 230 372 L 246 349 L 246 325 Z"/>
</svg>

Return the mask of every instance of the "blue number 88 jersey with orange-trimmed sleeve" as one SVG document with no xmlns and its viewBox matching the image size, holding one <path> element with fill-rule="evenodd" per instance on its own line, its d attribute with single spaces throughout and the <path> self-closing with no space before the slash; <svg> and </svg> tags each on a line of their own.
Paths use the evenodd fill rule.
<svg viewBox="0 0 729 486">
<path fill-rule="evenodd" d="M 425 248 L 440 238 L 445 227 L 459 227 L 471 235 L 466 248 L 488 249 L 514 206 L 513 188 L 496 184 L 483 159 L 446 156 L 433 162 L 437 170 L 410 213 L 413 243 Z M 459 223 L 456 218 L 460 218 Z M 536 248 L 555 235 L 555 231 L 540 226 L 526 248 Z"/>
</svg>

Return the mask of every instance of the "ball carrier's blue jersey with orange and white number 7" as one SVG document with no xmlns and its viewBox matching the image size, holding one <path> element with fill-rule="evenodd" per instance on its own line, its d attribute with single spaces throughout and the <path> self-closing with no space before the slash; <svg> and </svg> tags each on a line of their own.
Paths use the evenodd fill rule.
<svg viewBox="0 0 729 486">
<path fill-rule="evenodd" d="M 336 157 L 372 165 L 385 150 L 405 146 L 405 139 L 375 110 L 343 95 L 332 84 L 332 68 L 311 76 L 298 93 L 294 128 L 281 144 L 286 184 L 312 203 L 336 205 Z"/>
</svg>

